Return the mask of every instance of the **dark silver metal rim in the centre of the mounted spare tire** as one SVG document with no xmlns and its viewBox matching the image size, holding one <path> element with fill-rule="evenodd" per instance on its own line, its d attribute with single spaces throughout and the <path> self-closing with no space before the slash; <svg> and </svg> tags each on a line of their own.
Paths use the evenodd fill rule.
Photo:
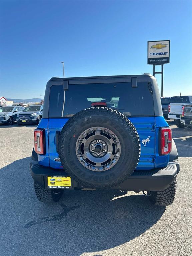
<svg viewBox="0 0 192 256">
<path fill-rule="evenodd" d="M 79 162 L 92 171 L 102 172 L 113 167 L 121 155 L 117 135 L 104 127 L 86 129 L 76 142 Z"/>
</svg>

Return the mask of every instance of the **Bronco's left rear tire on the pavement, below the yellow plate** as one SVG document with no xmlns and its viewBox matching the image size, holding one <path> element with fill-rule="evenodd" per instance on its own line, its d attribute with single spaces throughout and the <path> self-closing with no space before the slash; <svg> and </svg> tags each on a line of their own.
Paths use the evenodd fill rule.
<svg viewBox="0 0 192 256">
<path fill-rule="evenodd" d="M 35 194 L 37 198 L 39 199 L 39 201 L 43 203 L 58 202 L 63 195 L 63 190 L 42 188 L 36 182 L 34 182 L 34 188 L 35 188 Z"/>
</svg>

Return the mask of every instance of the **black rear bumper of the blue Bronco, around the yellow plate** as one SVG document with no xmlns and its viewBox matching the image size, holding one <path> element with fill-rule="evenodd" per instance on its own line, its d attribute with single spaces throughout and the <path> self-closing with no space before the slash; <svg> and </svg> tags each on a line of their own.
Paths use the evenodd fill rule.
<svg viewBox="0 0 192 256">
<path fill-rule="evenodd" d="M 64 170 L 44 167 L 38 162 L 30 163 L 31 176 L 35 182 L 41 187 L 47 188 L 47 176 L 67 176 Z M 127 180 L 112 189 L 125 191 L 162 191 L 168 188 L 179 173 L 178 163 L 169 163 L 163 169 L 154 169 L 150 171 L 135 171 Z M 72 179 L 72 189 L 85 189 L 88 187 L 82 186 Z"/>
</svg>

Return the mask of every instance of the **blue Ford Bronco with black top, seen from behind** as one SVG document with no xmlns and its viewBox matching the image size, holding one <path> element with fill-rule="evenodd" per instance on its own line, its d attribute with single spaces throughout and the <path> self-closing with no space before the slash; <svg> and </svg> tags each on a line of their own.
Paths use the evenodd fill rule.
<svg viewBox="0 0 192 256">
<path fill-rule="evenodd" d="M 30 172 L 37 198 L 63 191 L 143 191 L 171 205 L 179 172 L 171 128 L 150 74 L 51 78 L 34 130 Z"/>
</svg>

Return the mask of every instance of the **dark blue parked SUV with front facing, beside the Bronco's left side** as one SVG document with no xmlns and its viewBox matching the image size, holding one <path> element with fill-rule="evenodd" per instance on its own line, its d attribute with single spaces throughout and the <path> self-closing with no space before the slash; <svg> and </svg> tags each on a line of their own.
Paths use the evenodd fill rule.
<svg viewBox="0 0 192 256">
<path fill-rule="evenodd" d="M 43 105 L 30 105 L 17 115 L 17 124 L 38 124 L 42 118 Z"/>
</svg>

